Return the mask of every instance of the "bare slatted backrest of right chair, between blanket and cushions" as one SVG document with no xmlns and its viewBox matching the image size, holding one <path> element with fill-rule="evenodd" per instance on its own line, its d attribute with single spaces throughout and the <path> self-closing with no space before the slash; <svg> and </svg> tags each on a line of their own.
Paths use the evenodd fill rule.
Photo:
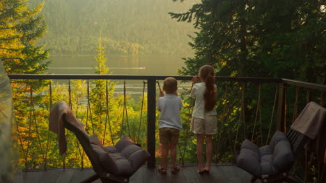
<svg viewBox="0 0 326 183">
<path fill-rule="evenodd" d="M 304 134 L 292 129 L 288 130 L 286 137 L 288 137 L 288 140 L 290 141 L 290 145 L 295 156 L 297 156 L 297 153 L 300 153 L 300 150 L 302 150 L 304 145 L 306 145 L 309 140 L 309 137 L 306 137 Z"/>
</svg>

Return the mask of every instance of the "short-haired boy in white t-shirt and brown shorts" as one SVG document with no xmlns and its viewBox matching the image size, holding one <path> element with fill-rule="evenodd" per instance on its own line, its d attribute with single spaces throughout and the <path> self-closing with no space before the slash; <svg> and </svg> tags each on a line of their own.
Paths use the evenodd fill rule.
<svg viewBox="0 0 326 183">
<path fill-rule="evenodd" d="M 180 130 L 183 125 L 180 120 L 180 110 L 183 103 L 177 94 L 178 82 L 175 78 L 166 78 L 163 82 L 163 90 L 157 103 L 157 109 L 161 112 L 159 119 L 160 143 L 162 144 L 162 166 L 157 168 L 160 173 L 166 173 L 167 157 L 171 150 L 171 173 L 178 173 L 176 166 L 176 146 L 179 141 Z"/>
</svg>

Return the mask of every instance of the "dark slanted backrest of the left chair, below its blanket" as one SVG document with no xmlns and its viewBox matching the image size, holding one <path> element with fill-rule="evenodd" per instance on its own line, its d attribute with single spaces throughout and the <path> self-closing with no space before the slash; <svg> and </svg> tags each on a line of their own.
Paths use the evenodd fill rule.
<svg viewBox="0 0 326 183">
<path fill-rule="evenodd" d="M 91 161 L 94 171 L 99 174 L 106 173 L 107 171 L 104 171 L 104 169 L 102 168 L 100 160 L 98 159 L 98 155 L 96 155 L 95 151 L 91 146 L 88 134 L 82 132 L 81 130 L 79 130 L 79 128 L 76 128 L 75 125 L 69 123 L 65 119 L 65 116 L 63 116 L 63 125 L 65 126 L 65 128 L 75 133 L 79 143 L 81 144 L 86 155 L 88 156 L 88 159 Z"/>
</svg>

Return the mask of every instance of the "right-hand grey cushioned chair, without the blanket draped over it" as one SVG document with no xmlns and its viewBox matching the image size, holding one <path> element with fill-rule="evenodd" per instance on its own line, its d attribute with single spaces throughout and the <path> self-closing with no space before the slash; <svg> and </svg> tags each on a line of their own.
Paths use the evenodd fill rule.
<svg viewBox="0 0 326 183">
<path fill-rule="evenodd" d="M 251 182 L 300 182 L 290 173 L 295 162 L 295 153 L 301 150 L 309 138 L 290 130 L 274 133 L 270 144 L 259 148 L 248 139 L 242 142 L 237 166 L 254 175 Z"/>
</svg>

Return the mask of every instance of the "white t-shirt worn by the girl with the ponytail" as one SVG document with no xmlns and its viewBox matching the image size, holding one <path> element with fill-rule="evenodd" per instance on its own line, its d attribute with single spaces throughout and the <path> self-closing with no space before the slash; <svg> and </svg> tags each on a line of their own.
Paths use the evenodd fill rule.
<svg viewBox="0 0 326 183">
<path fill-rule="evenodd" d="M 214 84 L 214 89 L 217 90 L 217 86 Z M 203 94 L 205 93 L 206 85 L 205 82 L 199 82 L 192 87 L 192 92 L 190 96 L 196 97 L 194 110 L 192 111 L 192 116 L 199 119 L 205 119 L 205 116 L 217 115 L 215 108 L 211 111 L 205 112 L 205 99 Z M 215 94 L 217 94 L 215 92 Z"/>
</svg>

